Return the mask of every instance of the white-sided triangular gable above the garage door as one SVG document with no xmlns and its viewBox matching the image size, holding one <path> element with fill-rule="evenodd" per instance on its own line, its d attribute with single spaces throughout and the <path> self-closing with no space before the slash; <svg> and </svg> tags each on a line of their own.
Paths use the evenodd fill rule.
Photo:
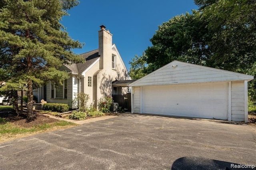
<svg viewBox="0 0 256 170">
<path fill-rule="evenodd" d="M 141 79 L 130 83 L 129 86 L 172 85 L 242 80 L 250 81 L 253 78 L 254 77 L 252 75 L 235 73 L 232 71 L 215 69 L 175 60 L 142 77 Z"/>
</svg>

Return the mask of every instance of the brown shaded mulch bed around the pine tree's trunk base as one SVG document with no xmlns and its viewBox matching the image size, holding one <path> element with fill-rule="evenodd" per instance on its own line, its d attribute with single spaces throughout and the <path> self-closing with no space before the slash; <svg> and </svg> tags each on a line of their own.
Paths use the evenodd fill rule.
<svg viewBox="0 0 256 170">
<path fill-rule="evenodd" d="M 19 127 L 24 127 L 24 128 L 30 128 L 34 127 L 36 125 L 43 125 L 44 123 L 54 123 L 58 122 L 58 119 L 53 119 L 49 118 L 45 115 L 40 115 L 38 113 L 34 113 L 35 117 L 33 119 L 27 119 L 27 113 L 26 111 L 23 112 L 22 115 L 19 117 L 15 113 L 13 109 L 5 109 L 1 110 L 0 117 L 5 118 L 9 122 L 13 123 L 14 125 L 18 125 Z"/>
</svg>

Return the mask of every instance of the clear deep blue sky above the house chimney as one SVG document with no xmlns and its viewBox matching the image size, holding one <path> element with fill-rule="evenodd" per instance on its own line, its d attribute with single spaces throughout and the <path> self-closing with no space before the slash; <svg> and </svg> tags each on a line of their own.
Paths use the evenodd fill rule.
<svg viewBox="0 0 256 170">
<path fill-rule="evenodd" d="M 197 8 L 193 0 L 80 0 L 61 23 L 72 39 L 85 43 L 73 50 L 77 54 L 98 49 L 98 30 L 106 26 L 129 70 L 134 55 L 152 46 L 150 38 L 159 25 Z"/>
</svg>

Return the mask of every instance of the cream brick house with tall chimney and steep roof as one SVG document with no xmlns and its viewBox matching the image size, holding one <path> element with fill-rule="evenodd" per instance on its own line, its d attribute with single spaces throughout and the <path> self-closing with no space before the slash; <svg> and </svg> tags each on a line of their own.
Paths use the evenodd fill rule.
<svg viewBox="0 0 256 170">
<path fill-rule="evenodd" d="M 85 63 L 62 65 L 60 70 L 70 76 L 63 81 L 63 85 L 48 83 L 33 91 L 38 102 L 44 99 L 49 103 L 64 103 L 76 108 L 72 103 L 74 95 L 86 93 L 90 97 L 88 105 L 97 107 L 97 101 L 103 96 L 127 93 L 127 87 L 112 86 L 113 81 L 131 78 L 116 45 L 112 43 L 112 34 L 105 28 L 102 25 L 98 31 L 98 49 L 81 54 Z"/>
</svg>

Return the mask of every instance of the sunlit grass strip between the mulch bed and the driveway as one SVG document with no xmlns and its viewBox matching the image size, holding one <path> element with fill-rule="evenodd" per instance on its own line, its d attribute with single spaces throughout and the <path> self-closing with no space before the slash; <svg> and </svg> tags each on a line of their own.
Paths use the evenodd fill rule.
<svg viewBox="0 0 256 170">
<path fill-rule="evenodd" d="M 10 123 L 3 118 L 0 118 L 0 143 L 13 140 L 15 138 L 22 138 L 33 134 L 38 134 L 41 132 L 70 128 L 74 126 L 77 126 L 77 124 L 67 121 L 58 121 L 55 123 L 44 123 L 43 125 L 36 125 L 31 128 L 24 128 L 14 125 L 13 123 Z"/>
</svg>

